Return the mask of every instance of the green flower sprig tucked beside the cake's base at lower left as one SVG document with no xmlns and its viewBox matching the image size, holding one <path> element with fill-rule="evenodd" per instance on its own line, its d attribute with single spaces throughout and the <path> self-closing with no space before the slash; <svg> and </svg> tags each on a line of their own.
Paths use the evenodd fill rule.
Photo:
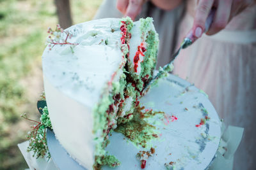
<svg viewBox="0 0 256 170">
<path fill-rule="evenodd" d="M 26 113 L 21 115 L 21 117 L 36 123 L 35 125 L 31 126 L 32 131 L 29 131 L 26 136 L 29 139 L 28 152 L 33 151 L 33 157 L 35 157 L 36 155 L 36 158 L 44 157 L 45 155 L 47 155 L 47 158 L 51 158 L 47 147 L 46 129 L 52 129 L 52 125 L 49 118 L 47 106 L 45 106 L 42 111 L 43 113 L 40 117 L 40 122 L 36 120 L 31 120 L 30 118 L 28 118 Z"/>
</svg>

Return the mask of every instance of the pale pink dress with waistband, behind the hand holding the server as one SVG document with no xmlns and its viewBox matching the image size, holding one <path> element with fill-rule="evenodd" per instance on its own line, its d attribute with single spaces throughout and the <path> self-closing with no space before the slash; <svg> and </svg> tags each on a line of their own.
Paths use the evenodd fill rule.
<svg viewBox="0 0 256 170">
<path fill-rule="evenodd" d="M 180 24 L 180 41 L 193 25 L 193 9 L 195 4 L 189 1 Z M 256 5 L 234 17 L 223 31 L 203 35 L 182 50 L 174 66 L 173 74 L 209 95 L 225 124 L 244 127 L 234 169 L 255 169 Z"/>
</svg>

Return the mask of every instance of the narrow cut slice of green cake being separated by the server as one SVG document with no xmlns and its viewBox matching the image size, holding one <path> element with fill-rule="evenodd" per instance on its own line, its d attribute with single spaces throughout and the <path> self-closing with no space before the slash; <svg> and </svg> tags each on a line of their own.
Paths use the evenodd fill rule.
<svg viewBox="0 0 256 170">
<path fill-rule="evenodd" d="M 141 19 L 132 27 L 134 36 L 131 37 L 128 57 L 129 75 L 136 84 L 136 90 L 141 92 L 145 84 L 152 79 L 156 67 L 158 43 L 152 18 Z"/>
</svg>

